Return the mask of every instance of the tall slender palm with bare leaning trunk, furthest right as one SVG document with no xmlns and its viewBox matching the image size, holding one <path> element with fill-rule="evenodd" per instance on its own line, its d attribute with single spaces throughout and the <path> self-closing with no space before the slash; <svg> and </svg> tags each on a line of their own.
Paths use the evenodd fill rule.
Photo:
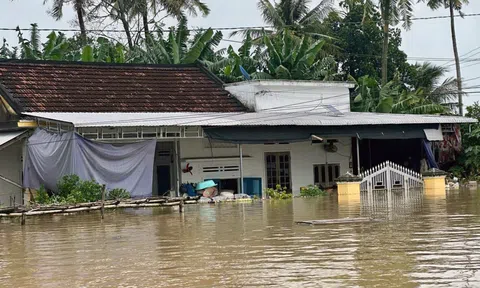
<svg viewBox="0 0 480 288">
<path fill-rule="evenodd" d="M 427 6 L 432 10 L 446 8 L 450 12 L 450 31 L 452 33 L 453 55 L 455 57 L 455 69 L 457 72 L 457 88 L 458 88 L 458 110 L 463 115 L 463 93 L 462 93 L 462 73 L 460 70 L 460 59 L 458 57 L 457 36 L 455 33 L 455 11 L 459 11 L 460 15 L 462 6 L 468 4 L 468 0 L 424 0 Z"/>
</svg>

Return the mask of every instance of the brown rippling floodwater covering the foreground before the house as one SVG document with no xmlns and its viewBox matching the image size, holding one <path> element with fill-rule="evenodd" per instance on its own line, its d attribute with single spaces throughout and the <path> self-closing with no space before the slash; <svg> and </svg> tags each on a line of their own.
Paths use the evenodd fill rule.
<svg viewBox="0 0 480 288">
<path fill-rule="evenodd" d="M 479 195 L 3 219 L 0 287 L 480 287 Z M 295 224 L 360 216 L 381 221 Z"/>
</svg>

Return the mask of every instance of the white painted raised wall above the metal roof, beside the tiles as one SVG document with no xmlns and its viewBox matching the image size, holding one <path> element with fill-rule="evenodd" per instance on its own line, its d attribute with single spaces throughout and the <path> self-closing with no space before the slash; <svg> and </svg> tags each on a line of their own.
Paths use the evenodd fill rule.
<svg viewBox="0 0 480 288">
<path fill-rule="evenodd" d="M 285 80 L 239 82 L 225 87 L 252 110 L 279 112 L 325 112 L 322 105 L 332 105 L 341 112 L 348 112 L 349 88 L 353 85 L 344 82 Z"/>
</svg>

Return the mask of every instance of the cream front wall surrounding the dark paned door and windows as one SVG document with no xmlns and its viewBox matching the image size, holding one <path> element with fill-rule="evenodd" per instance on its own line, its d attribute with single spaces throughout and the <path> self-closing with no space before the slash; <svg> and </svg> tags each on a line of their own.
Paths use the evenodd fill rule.
<svg viewBox="0 0 480 288">
<path fill-rule="evenodd" d="M 244 144 L 243 149 L 243 176 L 259 177 L 262 179 L 263 189 L 266 187 L 265 153 L 290 152 L 291 183 L 294 195 L 300 193 L 300 187 L 314 184 L 313 165 L 340 164 L 340 174 L 350 171 L 351 140 L 339 138 L 336 143 L 338 151 L 327 153 L 322 144 L 299 142 L 291 144 Z M 227 144 L 228 145 L 228 144 Z M 186 163 L 193 167 L 192 173 L 182 173 L 182 182 L 196 183 L 205 179 L 240 178 L 238 171 L 204 173 L 203 167 L 239 165 L 238 147 L 208 148 L 208 139 L 180 140 L 181 167 Z M 215 159 L 224 157 L 223 159 Z M 228 157 L 228 158 L 227 158 Z M 201 158 L 201 159 L 199 159 Z M 212 159 L 213 158 L 213 159 Z"/>
</svg>

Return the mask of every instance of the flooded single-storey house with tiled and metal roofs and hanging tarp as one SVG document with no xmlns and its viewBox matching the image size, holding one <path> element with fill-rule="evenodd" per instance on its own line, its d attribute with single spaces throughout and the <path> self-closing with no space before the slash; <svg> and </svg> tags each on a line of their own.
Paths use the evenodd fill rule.
<svg viewBox="0 0 480 288">
<path fill-rule="evenodd" d="M 0 203 L 12 196 L 19 202 L 22 186 L 38 189 L 25 180 L 32 173 L 62 176 L 68 169 L 38 163 L 51 160 L 42 158 L 45 150 L 66 151 L 63 143 L 73 137 L 83 144 L 68 153 L 83 153 L 82 175 L 107 185 L 127 181 L 144 196 L 214 180 L 220 190 L 262 197 L 276 185 L 294 195 L 311 184 L 333 187 L 340 175 L 387 160 L 419 171 L 422 159 L 438 160 L 431 142 L 474 122 L 351 112 L 353 88 L 324 81 L 225 84 L 199 64 L 0 62 Z M 47 140 L 38 141 L 39 133 Z M 125 159 L 112 160 L 112 151 Z M 38 161 L 26 164 L 32 157 Z M 79 161 L 68 159 L 79 158 L 65 157 L 57 165 L 77 171 Z"/>
</svg>

